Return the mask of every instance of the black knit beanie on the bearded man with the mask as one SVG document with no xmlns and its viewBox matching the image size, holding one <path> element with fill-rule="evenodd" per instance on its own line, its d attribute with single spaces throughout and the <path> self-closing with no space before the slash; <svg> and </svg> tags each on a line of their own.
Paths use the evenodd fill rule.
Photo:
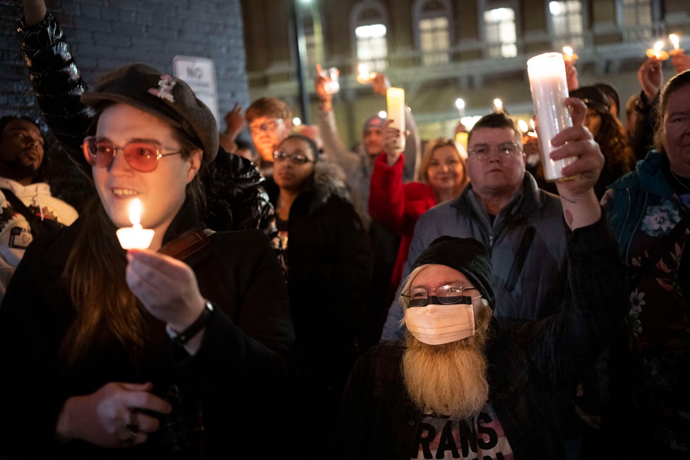
<svg viewBox="0 0 690 460">
<path fill-rule="evenodd" d="M 491 257 L 482 243 L 474 238 L 455 238 L 440 236 L 431 242 L 415 263 L 412 269 L 427 264 L 446 265 L 460 271 L 479 289 L 482 297 L 494 307 L 493 269 Z"/>
</svg>

